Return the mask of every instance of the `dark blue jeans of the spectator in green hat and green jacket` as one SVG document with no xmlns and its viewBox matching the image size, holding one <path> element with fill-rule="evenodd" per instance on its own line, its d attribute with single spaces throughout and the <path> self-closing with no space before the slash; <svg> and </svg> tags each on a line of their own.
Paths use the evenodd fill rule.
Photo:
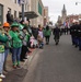
<svg viewBox="0 0 81 82">
<path fill-rule="evenodd" d="M 21 48 L 12 48 L 12 62 L 15 65 L 20 62 Z"/>
</svg>

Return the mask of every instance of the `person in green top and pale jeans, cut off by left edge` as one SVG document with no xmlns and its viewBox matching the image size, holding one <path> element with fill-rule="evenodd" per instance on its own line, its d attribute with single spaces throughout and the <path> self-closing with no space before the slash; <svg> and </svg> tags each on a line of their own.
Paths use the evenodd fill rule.
<svg viewBox="0 0 81 82">
<path fill-rule="evenodd" d="M 4 31 L 0 28 L 0 78 L 5 78 L 3 74 L 3 63 L 4 63 L 4 44 L 8 42 L 8 37 Z"/>
</svg>

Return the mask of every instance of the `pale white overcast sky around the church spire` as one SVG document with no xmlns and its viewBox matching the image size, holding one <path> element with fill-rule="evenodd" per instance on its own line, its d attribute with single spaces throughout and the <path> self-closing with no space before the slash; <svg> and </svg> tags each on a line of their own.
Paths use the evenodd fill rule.
<svg viewBox="0 0 81 82">
<path fill-rule="evenodd" d="M 49 8 L 50 20 L 56 22 L 58 15 L 61 15 L 63 4 L 66 4 L 67 14 L 81 13 L 81 0 L 42 0 L 43 4 Z M 76 2 L 79 2 L 76 5 Z"/>
</svg>

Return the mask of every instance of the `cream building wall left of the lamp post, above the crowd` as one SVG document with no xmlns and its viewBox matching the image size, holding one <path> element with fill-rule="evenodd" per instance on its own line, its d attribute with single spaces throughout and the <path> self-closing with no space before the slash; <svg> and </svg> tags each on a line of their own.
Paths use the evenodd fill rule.
<svg viewBox="0 0 81 82">
<path fill-rule="evenodd" d="M 0 23 L 7 22 L 7 13 L 11 12 L 13 17 L 19 17 L 21 5 L 18 0 L 0 0 Z"/>
</svg>

